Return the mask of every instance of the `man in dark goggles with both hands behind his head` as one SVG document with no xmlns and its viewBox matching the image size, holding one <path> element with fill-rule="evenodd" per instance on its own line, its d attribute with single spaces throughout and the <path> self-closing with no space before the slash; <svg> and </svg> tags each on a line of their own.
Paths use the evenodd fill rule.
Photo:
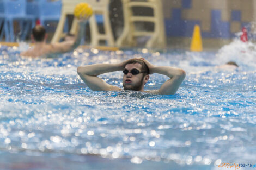
<svg viewBox="0 0 256 170">
<path fill-rule="evenodd" d="M 119 64 L 94 64 L 77 68 L 78 75 L 93 91 L 120 91 L 120 87 L 109 85 L 97 77 L 114 71 L 123 71 L 124 90 L 159 95 L 174 95 L 186 76 L 186 72 L 181 68 L 154 66 L 144 58 L 133 58 Z M 153 73 L 167 75 L 169 80 L 163 83 L 159 90 L 144 91 L 144 85 L 149 81 L 149 74 Z"/>
</svg>

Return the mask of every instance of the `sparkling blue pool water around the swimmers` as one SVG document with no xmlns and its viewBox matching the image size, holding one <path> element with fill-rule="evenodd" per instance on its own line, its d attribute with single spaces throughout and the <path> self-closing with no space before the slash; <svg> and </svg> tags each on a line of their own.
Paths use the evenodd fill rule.
<svg viewBox="0 0 256 170">
<path fill-rule="evenodd" d="M 256 58 L 252 43 L 216 52 L 77 49 L 28 59 L 0 47 L 1 169 L 220 169 L 256 163 Z M 184 68 L 176 95 L 93 92 L 80 65 L 143 56 Z M 234 70 L 218 66 L 233 60 Z M 121 72 L 100 76 L 121 85 Z M 167 77 L 153 74 L 145 89 Z M 240 169 L 243 169 L 240 167 Z"/>
</svg>

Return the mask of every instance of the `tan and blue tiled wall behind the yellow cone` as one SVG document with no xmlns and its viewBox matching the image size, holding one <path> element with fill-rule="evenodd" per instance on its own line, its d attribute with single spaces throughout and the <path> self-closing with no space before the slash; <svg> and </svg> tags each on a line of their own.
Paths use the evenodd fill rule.
<svg viewBox="0 0 256 170">
<path fill-rule="evenodd" d="M 203 38 L 225 40 L 233 39 L 242 27 L 251 29 L 256 8 L 251 0 L 162 0 L 162 4 L 167 37 L 192 37 L 198 24 Z"/>
</svg>

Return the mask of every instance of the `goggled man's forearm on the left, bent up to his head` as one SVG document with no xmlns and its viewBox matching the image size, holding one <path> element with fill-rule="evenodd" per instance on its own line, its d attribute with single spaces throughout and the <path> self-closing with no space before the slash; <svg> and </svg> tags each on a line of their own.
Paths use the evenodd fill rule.
<svg viewBox="0 0 256 170">
<path fill-rule="evenodd" d="M 103 73 L 120 71 L 122 69 L 123 66 L 121 66 L 120 64 L 94 64 L 78 67 L 77 72 L 78 74 L 97 76 Z"/>
</svg>

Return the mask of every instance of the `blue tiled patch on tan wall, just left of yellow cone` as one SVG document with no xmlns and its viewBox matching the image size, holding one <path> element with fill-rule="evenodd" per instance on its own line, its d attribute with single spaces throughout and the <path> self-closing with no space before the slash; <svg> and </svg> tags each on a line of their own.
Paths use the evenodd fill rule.
<svg viewBox="0 0 256 170">
<path fill-rule="evenodd" d="M 169 37 L 192 37 L 194 25 L 199 21 L 182 20 L 181 9 L 172 9 L 172 18 L 165 20 L 166 34 Z"/>
</svg>

